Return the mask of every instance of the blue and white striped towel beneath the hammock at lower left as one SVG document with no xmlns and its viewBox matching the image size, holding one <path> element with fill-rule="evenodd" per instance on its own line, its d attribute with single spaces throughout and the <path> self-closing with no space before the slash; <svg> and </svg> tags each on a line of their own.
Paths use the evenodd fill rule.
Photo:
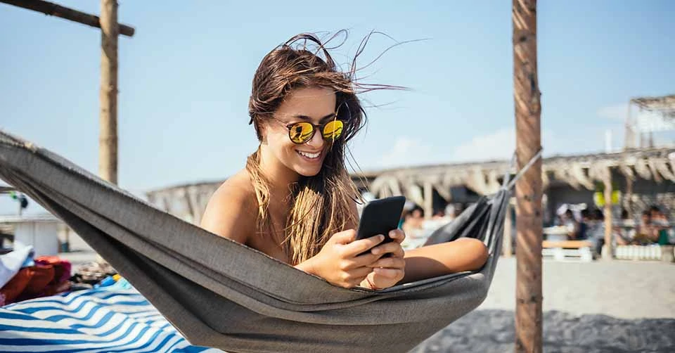
<svg viewBox="0 0 675 353">
<path fill-rule="evenodd" d="M 0 352 L 222 352 L 190 345 L 136 290 L 94 289 L 0 308 Z"/>
</svg>

